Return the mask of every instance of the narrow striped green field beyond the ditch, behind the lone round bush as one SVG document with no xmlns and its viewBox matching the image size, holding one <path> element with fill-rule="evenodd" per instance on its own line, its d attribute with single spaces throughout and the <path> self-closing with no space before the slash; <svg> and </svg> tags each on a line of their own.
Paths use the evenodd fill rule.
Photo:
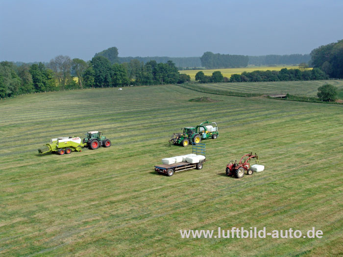
<svg viewBox="0 0 343 257">
<path fill-rule="evenodd" d="M 293 95 L 316 96 L 318 88 L 331 84 L 339 90 L 342 96 L 343 80 L 311 80 L 311 81 L 277 81 L 277 82 L 236 82 L 236 83 L 196 83 L 199 89 L 211 89 L 238 93 L 289 93 Z"/>
</svg>

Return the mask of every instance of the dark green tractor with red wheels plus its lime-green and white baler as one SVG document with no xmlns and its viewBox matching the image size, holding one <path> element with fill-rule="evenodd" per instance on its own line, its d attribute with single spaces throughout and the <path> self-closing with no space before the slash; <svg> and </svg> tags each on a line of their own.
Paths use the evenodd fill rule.
<svg viewBox="0 0 343 257">
<path fill-rule="evenodd" d="M 106 137 L 101 136 L 99 131 L 90 131 L 86 134 L 86 138 L 81 140 L 79 137 L 61 137 L 51 139 L 42 148 L 38 149 L 41 154 L 55 152 L 59 155 L 70 154 L 73 151 L 81 152 L 83 147 L 89 149 L 98 149 L 99 146 L 110 147 L 111 141 Z"/>
</svg>

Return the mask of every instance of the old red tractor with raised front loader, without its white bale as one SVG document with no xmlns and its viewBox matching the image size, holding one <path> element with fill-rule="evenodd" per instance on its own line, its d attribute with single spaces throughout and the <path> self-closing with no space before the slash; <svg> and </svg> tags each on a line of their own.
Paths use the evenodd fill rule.
<svg viewBox="0 0 343 257">
<path fill-rule="evenodd" d="M 235 176 L 240 179 L 243 178 L 245 170 L 247 175 L 252 175 L 254 171 L 250 168 L 250 160 L 253 158 L 256 158 L 257 163 L 258 156 L 256 153 L 254 155 L 252 153 L 245 154 L 239 163 L 237 163 L 237 161 L 230 161 L 230 163 L 226 165 L 226 175 Z"/>
</svg>

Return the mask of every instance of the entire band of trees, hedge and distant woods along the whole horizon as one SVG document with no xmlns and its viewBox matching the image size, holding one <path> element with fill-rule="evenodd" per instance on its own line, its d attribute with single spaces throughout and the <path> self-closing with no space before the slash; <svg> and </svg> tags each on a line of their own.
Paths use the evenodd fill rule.
<svg viewBox="0 0 343 257">
<path fill-rule="evenodd" d="M 311 57 L 311 58 L 310 58 Z M 156 59 L 154 59 L 156 58 Z M 90 61 L 58 55 L 49 63 L 0 62 L 0 97 L 18 94 L 90 87 L 122 87 L 127 85 L 175 84 L 190 81 L 180 74 L 179 65 L 190 65 L 197 57 L 119 57 L 117 47 L 110 47 Z M 312 50 L 310 55 L 266 55 L 251 58 L 245 55 L 205 52 L 199 61 L 206 68 L 246 67 L 248 64 L 300 64 L 299 69 L 253 71 L 223 77 L 220 71 L 212 76 L 197 73 L 196 80 L 209 82 L 281 81 L 343 78 L 343 40 Z M 184 64 L 182 64 L 184 62 Z M 195 62 L 195 67 L 199 62 Z M 306 70 L 310 64 L 313 69 Z M 77 78 L 77 79 L 75 79 Z"/>
</svg>

